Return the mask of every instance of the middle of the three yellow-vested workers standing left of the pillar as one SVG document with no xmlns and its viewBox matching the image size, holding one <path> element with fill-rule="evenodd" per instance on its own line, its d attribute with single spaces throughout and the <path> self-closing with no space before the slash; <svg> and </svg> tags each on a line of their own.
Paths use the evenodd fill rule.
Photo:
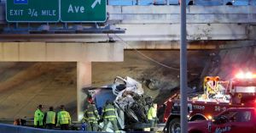
<svg viewBox="0 0 256 133">
<path fill-rule="evenodd" d="M 49 111 L 47 111 L 44 115 L 46 129 L 52 130 L 56 123 L 56 113 L 54 112 L 54 108 L 49 107 Z"/>
</svg>

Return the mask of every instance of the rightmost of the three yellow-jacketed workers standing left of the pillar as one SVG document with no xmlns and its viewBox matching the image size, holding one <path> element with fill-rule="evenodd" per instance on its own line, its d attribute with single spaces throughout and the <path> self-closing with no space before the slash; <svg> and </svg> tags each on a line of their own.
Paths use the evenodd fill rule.
<svg viewBox="0 0 256 133">
<path fill-rule="evenodd" d="M 65 111 L 64 105 L 61 105 L 61 111 L 57 114 L 57 126 L 61 126 L 61 130 L 69 130 L 71 124 L 71 118 L 67 111 Z"/>
</svg>

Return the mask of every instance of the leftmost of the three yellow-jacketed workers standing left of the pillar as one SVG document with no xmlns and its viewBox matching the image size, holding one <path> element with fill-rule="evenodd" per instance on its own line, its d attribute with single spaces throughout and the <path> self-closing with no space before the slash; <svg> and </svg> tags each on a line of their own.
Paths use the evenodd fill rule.
<svg viewBox="0 0 256 133">
<path fill-rule="evenodd" d="M 34 114 L 34 126 L 35 128 L 43 128 L 44 126 L 44 113 L 43 106 L 41 104 L 38 105 L 38 109 Z"/>
</svg>

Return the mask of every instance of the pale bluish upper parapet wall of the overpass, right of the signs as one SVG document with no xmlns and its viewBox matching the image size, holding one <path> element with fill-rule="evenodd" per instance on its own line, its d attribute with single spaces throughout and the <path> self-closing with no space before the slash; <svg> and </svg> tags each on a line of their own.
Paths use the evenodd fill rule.
<svg viewBox="0 0 256 133">
<path fill-rule="evenodd" d="M 256 6 L 188 6 L 188 24 L 255 24 Z M 179 6 L 108 6 L 122 24 L 179 24 Z"/>
</svg>

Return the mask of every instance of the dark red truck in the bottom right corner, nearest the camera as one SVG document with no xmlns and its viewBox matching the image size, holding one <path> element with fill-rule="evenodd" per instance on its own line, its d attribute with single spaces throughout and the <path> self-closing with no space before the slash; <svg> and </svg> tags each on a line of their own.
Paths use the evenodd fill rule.
<svg viewBox="0 0 256 133">
<path fill-rule="evenodd" d="M 189 133 L 256 132 L 255 108 L 228 108 L 212 120 L 189 122 Z"/>
</svg>

